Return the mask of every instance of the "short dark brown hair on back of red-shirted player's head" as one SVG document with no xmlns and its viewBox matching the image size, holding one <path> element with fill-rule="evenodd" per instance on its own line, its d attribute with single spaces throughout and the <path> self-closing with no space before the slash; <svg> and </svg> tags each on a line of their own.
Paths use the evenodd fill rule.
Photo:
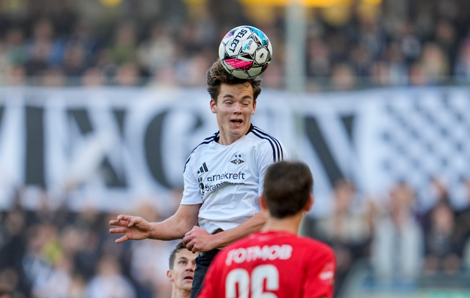
<svg viewBox="0 0 470 298">
<path fill-rule="evenodd" d="M 309 167 L 298 161 L 271 164 L 264 177 L 264 197 L 269 213 L 283 218 L 298 213 L 314 186 Z"/>
</svg>

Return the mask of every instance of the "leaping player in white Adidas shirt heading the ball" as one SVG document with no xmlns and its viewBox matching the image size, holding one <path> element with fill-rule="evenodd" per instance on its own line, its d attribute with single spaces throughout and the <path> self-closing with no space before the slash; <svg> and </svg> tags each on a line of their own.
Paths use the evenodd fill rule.
<svg viewBox="0 0 470 298">
<path fill-rule="evenodd" d="M 261 93 L 261 78 L 230 75 L 220 59 L 207 71 L 210 110 L 219 131 L 189 154 L 184 168 L 184 192 L 178 210 L 163 222 L 149 223 L 121 214 L 110 221 L 111 233 L 127 240 L 183 239 L 196 258 L 191 298 L 198 295 L 213 257 L 233 241 L 258 231 L 266 223 L 258 197 L 267 167 L 286 157 L 284 146 L 251 124 Z M 199 226 L 197 226 L 199 224 Z"/>
</svg>

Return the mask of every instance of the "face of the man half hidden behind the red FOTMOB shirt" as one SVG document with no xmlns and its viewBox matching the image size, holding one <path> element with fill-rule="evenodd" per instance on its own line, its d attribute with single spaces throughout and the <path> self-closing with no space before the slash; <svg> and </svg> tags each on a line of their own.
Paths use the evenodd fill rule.
<svg viewBox="0 0 470 298">
<path fill-rule="evenodd" d="M 167 273 L 168 279 L 173 282 L 175 288 L 185 291 L 191 290 L 197 256 L 198 254 L 192 253 L 187 249 L 177 252 L 173 269 Z"/>
</svg>

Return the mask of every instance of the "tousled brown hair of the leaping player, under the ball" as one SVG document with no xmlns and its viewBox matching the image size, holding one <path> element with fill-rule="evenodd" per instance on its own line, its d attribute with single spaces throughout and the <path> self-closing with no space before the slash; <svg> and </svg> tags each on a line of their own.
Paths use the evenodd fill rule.
<svg viewBox="0 0 470 298">
<path fill-rule="evenodd" d="M 261 93 L 261 78 L 259 76 L 246 79 L 233 76 L 225 70 L 219 58 L 207 70 L 206 78 L 207 92 L 209 92 L 210 98 L 212 98 L 216 104 L 217 97 L 219 97 L 220 93 L 220 84 L 250 84 L 253 87 L 253 104 Z"/>
</svg>

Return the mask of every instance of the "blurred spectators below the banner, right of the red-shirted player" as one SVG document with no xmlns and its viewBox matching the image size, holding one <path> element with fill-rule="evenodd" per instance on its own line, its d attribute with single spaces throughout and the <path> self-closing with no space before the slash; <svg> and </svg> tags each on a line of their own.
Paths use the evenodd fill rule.
<svg viewBox="0 0 470 298">
<path fill-rule="evenodd" d="M 346 179 L 337 181 L 331 212 L 311 219 L 306 228 L 335 250 L 337 291 L 356 261 L 366 260 L 378 284 L 399 287 L 470 272 L 470 180 L 461 183 L 467 198 L 463 209 L 452 203 L 443 177 L 430 178 L 432 197 L 426 198 L 406 181 L 380 198 L 361 195 Z M 427 200 L 433 202 L 430 207 L 423 205 Z"/>
</svg>

